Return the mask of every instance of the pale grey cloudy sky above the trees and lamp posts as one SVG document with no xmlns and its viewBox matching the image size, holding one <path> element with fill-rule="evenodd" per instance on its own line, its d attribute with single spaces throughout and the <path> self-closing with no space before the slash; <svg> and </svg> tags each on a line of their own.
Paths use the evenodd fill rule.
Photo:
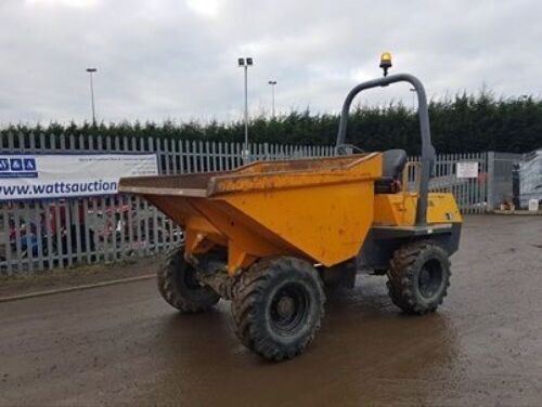
<svg viewBox="0 0 542 407">
<path fill-rule="evenodd" d="M 104 121 L 236 119 L 237 56 L 253 56 L 251 114 L 337 111 L 356 83 L 418 76 L 429 96 L 540 95 L 542 3 L 535 0 L 0 0 L 0 123 L 82 121 L 88 66 Z M 360 96 L 412 105 L 408 86 Z"/>
</svg>

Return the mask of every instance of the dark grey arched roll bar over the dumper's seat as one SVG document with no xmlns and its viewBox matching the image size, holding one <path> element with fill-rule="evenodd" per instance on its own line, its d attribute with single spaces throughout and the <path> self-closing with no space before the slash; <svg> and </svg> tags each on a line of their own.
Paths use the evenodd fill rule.
<svg viewBox="0 0 542 407">
<path fill-rule="evenodd" d="M 431 144 L 427 96 L 425 94 L 424 86 L 420 79 L 410 74 L 397 74 L 362 82 L 354 87 L 348 93 L 345 103 L 343 104 L 336 148 L 345 144 L 350 105 L 352 104 L 356 95 L 367 89 L 387 87 L 388 84 L 396 82 L 409 82 L 415 89 L 417 95 L 417 116 L 420 119 L 420 133 L 422 135 L 422 174 L 420 178 L 420 197 L 417 199 L 416 225 L 425 225 L 427 223 L 427 196 L 429 194 L 431 167 L 435 160 L 435 147 Z"/>
</svg>

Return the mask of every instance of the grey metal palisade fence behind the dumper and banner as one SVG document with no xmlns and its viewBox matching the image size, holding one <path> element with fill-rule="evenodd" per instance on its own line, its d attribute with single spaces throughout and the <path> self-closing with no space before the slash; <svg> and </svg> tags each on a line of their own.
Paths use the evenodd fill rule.
<svg viewBox="0 0 542 407">
<path fill-rule="evenodd" d="M 156 153 L 162 174 L 222 171 L 243 163 L 238 143 L 152 137 L 46 137 L 11 133 L 3 153 Z M 254 144 L 250 157 L 273 160 L 331 156 L 333 147 Z M 492 157 L 492 156 L 491 156 Z M 412 158 L 416 160 L 417 158 Z M 457 162 L 478 162 L 478 175 L 457 179 Z M 430 189 L 455 195 L 463 213 L 488 209 L 488 154 L 439 155 Z M 492 184 L 494 188 L 494 183 Z M 145 200 L 130 195 L 0 204 L 0 273 L 112 262 L 167 250 L 182 231 Z"/>
</svg>

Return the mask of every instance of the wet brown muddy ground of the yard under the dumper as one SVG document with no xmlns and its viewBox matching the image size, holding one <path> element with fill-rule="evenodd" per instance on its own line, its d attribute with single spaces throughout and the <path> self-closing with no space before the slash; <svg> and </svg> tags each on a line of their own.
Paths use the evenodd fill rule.
<svg viewBox="0 0 542 407">
<path fill-rule="evenodd" d="M 0 405 L 542 405 L 542 216 L 467 218 L 440 312 L 384 277 L 330 296 L 300 357 L 245 350 L 229 304 L 181 316 L 153 280 L 0 304 Z"/>
</svg>

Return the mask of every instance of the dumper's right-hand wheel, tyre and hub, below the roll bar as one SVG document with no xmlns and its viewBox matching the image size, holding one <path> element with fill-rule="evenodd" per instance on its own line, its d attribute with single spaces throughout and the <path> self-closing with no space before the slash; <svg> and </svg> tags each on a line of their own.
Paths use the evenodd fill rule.
<svg viewBox="0 0 542 407">
<path fill-rule="evenodd" d="M 431 240 L 402 246 L 388 271 L 388 292 L 393 304 L 408 314 L 435 312 L 450 286 L 448 253 Z"/>
</svg>

